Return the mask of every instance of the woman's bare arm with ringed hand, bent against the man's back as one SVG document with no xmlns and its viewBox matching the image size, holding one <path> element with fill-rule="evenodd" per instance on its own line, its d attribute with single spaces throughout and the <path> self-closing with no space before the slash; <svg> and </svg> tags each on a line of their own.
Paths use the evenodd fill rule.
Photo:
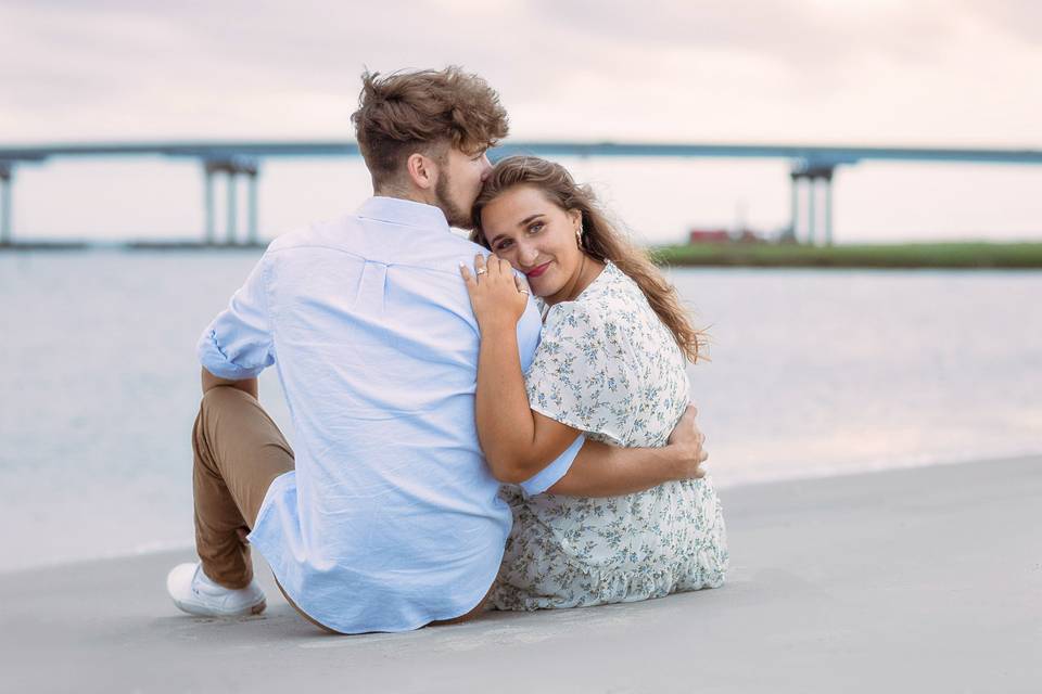
<svg viewBox="0 0 1042 694">
<path fill-rule="evenodd" d="M 521 483 L 546 467 L 580 435 L 567 424 L 533 412 L 524 389 L 517 325 L 528 304 L 528 288 L 510 264 L 490 256 L 466 267 L 474 316 L 481 331 L 475 413 L 478 439 L 496 479 Z"/>
</svg>

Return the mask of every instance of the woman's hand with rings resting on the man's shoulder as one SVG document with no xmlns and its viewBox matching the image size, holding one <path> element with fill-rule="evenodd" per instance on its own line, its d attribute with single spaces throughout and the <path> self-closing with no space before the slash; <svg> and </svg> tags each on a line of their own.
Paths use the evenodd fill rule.
<svg viewBox="0 0 1042 694">
<path fill-rule="evenodd" d="M 459 273 L 467 283 L 470 305 L 481 332 L 514 331 L 529 303 L 529 287 L 513 273 L 510 264 L 494 255 L 486 260 L 478 254 L 473 273 L 463 264 L 459 265 Z"/>
</svg>

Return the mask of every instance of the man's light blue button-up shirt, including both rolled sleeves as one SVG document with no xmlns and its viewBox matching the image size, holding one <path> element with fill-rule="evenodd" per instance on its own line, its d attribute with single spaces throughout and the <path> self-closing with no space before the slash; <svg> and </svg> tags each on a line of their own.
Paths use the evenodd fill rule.
<svg viewBox="0 0 1042 694">
<path fill-rule="evenodd" d="M 275 241 L 200 339 L 214 375 L 278 369 L 296 470 L 268 489 L 250 542 L 336 631 L 458 617 L 497 574 L 511 514 L 478 445 L 479 332 L 458 269 L 480 250 L 436 207 L 373 197 Z M 524 369 L 541 326 L 530 304 Z M 526 491 L 560 479 L 582 442 Z"/>
</svg>

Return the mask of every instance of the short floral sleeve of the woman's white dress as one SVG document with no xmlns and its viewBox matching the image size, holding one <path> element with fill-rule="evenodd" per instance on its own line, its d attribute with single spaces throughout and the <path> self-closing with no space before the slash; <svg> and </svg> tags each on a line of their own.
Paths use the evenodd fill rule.
<svg viewBox="0 0 1042 694">
<path fill-rule="evenodd" d="M 525 374 L 531 408 L 595 438 L 624 446 L 639 380 L 620 326 L 581 303 L 554 306 Z"/>
</svg>

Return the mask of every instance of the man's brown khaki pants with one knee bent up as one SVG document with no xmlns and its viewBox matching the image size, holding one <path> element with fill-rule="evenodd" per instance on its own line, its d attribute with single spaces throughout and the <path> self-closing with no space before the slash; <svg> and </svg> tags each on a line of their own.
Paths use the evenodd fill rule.
<svg viewBox="0 0 1042 694">
<path fill-rule="evenodd" d="M 203 395 L 192 452 L 195 550 L 203 571 L 226 588 L 245 588 L 253 578 L 253 563 L 250 545 L 240 536 L 256 522 L 271 481 L 293 470 L 293 451 L 253 396 L 217 386 Z M 282 586 L 279 590 L 304 618 L 332 631 L 297 607 Z M 466 615 L 431 624 L 465 621 L 483 606 L 484 601 Z"/>
</svg>

